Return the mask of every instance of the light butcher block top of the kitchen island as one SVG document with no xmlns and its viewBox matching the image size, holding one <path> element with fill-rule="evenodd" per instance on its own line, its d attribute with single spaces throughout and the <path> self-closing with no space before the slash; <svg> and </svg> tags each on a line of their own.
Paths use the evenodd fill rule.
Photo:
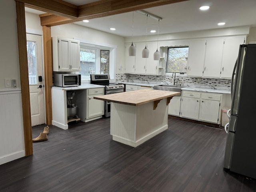
<svg viewBox="0 0 256 192">
<path fill-rule="evenodd" d="M 129 92 L 96 96 L 94 97 L 94 99 L 104 100 L 108 102 L 115 102 L 115 103 L 120 103 L 125 105 L 138 106 L 138 105 L 146 104 L 149 102 L 156 102 L 156 101 L 159 102 L 164 98 L 169 98 L 168 100 L 168 103 L 169 103 L 170 99 L 173 96 L 178 94 L 180 94 L 180 92 L 141 89 L 141 90 L 135 90 L 135 91 L 129 91 Z"/>
</svg>

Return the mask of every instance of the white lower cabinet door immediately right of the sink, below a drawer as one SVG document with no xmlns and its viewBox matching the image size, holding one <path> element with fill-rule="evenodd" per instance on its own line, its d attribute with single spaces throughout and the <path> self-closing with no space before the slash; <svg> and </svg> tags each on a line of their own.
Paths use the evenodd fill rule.
<svg viewBox="0 0 256 192">
<path fill-rule="evenodd" d="M 199 100 L 198 98 L 182 98 L 181 116 L 198 119 Z"/>
</svg>

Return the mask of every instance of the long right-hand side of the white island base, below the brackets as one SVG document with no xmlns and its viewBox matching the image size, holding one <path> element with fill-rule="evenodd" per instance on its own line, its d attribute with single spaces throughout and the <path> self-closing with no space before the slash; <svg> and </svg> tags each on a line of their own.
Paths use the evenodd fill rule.
<svg viewBox="0 0 256 192">
<path fill-rule="evenodd" d="M 155 110 L 154 102 L 137 107 L 136 146 L 168 128 L 167 99 L 162 99 Z"/>
</svg>

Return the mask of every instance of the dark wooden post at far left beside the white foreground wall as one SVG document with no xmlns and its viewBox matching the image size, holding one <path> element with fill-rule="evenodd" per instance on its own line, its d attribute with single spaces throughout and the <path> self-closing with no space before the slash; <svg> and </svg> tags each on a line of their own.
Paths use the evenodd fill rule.
<svg viewBox="0 0 256 192">
<path fill-rule="evenodd" d="M 22 98 L 22 114 L 24 126 L 25 155 L 33 154 L 32 126 L 30 111 L 30 95 L 28 82 L 28 55 L 26 40 L 25 6 L 24 3 L 16 1 L 18 48 L 20 62 L 20 85 Z"/>
</svg>

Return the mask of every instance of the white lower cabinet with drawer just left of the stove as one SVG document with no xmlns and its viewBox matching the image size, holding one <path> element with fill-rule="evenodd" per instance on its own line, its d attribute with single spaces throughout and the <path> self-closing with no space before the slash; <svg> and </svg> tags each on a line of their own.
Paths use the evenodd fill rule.
<svg viewBox="0 0 256 192">
<path fill-rule="evenodd" d="M 104 101 L 93 98 L 94 96 L 100 95 L 104 95 L 104 88 L 87 90 L 87 112 L 85 122 L 87 122 L 90 118 L 104 114 Z"/>
</svg>

